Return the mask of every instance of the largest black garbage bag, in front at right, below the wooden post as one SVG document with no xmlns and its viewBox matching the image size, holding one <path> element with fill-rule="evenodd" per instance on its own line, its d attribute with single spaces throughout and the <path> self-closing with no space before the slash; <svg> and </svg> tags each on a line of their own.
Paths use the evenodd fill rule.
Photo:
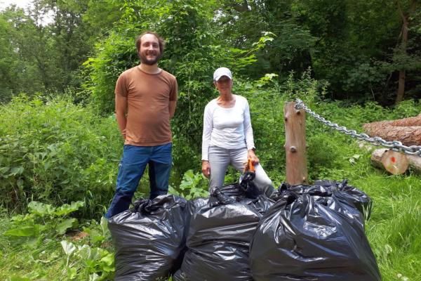
<svg viewBox="0 0 421 281">
<path fill-rule="evenodd" d="M 381 280 L 359 211 L 328 188 L 309 190 L 278 192 L 260 220 L 250 244 L 253 280 Z"/>
</svg>

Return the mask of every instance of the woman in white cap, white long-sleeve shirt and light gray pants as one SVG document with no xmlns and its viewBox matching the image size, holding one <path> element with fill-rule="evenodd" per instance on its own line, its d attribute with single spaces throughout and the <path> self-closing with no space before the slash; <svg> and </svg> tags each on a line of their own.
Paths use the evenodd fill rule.
<svg viewBox="0 0 421 281">
<path fill-rule="evenodd" d="M 253 129 L 246 98 L 232 93 L 232 73 L 220 67 L 213 73 L 220 96 L 205 107 L 202 137 L 202 173 L 210 178 L 209 188 L 224 184 L 229 164 L 242 171 L 248 158 L 255 165 L 255 185 L 270 195 L 274 190 L 255 155 Z"/>
</svg>

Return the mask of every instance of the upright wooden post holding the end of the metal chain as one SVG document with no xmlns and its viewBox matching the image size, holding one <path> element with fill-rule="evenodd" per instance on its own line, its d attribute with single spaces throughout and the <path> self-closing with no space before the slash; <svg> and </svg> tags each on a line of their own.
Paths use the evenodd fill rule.
<svg viewBox="0 0 421 281">
<path fill-rule="evenodd" d="M 308 183 L 305 111 L 296 110 L 295 102 L 290 102 L 283 107 L 283 114 L 286 135 L 286 182 L 290 185 Z"/>
</svg>

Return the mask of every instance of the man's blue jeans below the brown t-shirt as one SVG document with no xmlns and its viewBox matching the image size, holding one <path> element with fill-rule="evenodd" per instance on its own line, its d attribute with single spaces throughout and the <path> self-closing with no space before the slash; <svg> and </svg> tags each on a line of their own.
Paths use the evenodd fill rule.
<svg viewBox="0 0 421 281">
<path fill-rule="evenodd" d="M 116 194 L 105 214 L 106 218 L 111 218 L 128 209 L 147 164 L 149 164 L 149 198 L 153 199 L 168 192 L 168 180 L 173 161 L 171 150 L 171 143 L 157 146 L 124 145 L 123 158 L 117 176 Z"/>
</svg>

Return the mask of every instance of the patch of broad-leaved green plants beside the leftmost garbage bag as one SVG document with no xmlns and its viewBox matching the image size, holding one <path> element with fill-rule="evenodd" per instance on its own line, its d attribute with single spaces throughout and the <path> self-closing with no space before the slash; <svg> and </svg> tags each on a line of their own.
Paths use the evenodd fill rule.
<svg viewBox="0 0 421 281">
<path fill-rule="evenodd" d="M 88 240 L 79 241 L 76 235 L 65 235 L 70 228 L 79 227 L 76 218 L 68 216 L 83 207 L 83 204 L 72 202 L 53 207 L 51 204 L 31 202 L 28 206 L 29 214 L 11 218 L 8 230 L 3 233 L 11 241 L 8 247 L 13 249 L 7 256 L 25 251 L 27 261 L 24 268 L 31 270 L 25 275 L 11 275 L 8 280 L 44 279 L 45 266 L 53 267 L 57 263 L 59 268 L 54 273 L 57 280 L 110 280 L 113 277 L 114 254 L 102 247 L 102 243 L 109 240 L 105 218 L 102 218 L 99 226 L 95 221 L 86 223 L 83 230 Z M 64 259 L 60 260 L 60 257 Z"/>
</svg>

